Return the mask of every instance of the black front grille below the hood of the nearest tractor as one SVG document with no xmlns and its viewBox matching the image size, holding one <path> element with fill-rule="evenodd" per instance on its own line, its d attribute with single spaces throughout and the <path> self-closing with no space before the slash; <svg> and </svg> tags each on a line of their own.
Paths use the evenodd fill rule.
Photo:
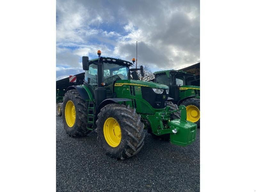
<svg viewBox="0 0 256 192">
<path fill-rule="evenodd" d="M 166 89 L 162 94 L 155 93 L 150 87 L 141 86 L 142 98 L 148 101 L 148 103 L 156 109 L 165 108 L 164 103 L 167 101 L 168 95 L 166 94 Z M 165 97 L 165 98 L 164 98 Z"/>
</svg>

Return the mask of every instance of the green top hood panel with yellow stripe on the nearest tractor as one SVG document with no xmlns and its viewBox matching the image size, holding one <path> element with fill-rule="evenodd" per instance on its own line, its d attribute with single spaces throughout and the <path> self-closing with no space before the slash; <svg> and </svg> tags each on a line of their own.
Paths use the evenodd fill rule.
<svg viewBox="0 0 256 192">
<path fill-rule="evenodd" d="M 135 85 L 135 86 L 145 86 L 145 87 L 151 87 L 151 88 L 158 88 L 158 89 L 169 89 L 168 86 L 154 83 L 154 82 L 148 82 L 148 81 L 140 81 L 140 80 L 117 80 L 115 83 L 115 86 L 122 86 L 122 85 Z"/>
</svg>

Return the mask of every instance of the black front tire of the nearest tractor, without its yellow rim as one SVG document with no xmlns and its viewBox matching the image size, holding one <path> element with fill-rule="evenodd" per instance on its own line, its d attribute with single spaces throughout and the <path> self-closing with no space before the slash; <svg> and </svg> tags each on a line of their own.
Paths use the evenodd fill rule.
<svg viewBox="0 0 256 192">
<path fill-rule="evenodd" d="M 114 118 L 121 129 L 121 141 L 116 147 L 112 147 L 105 139 L 103 126 L 108 118 Z M 124 159 L 136 155 L 144 145 L 144 124 L 140 121 L 140 115 L 135 108 L 117 103 L 108 104 L 100 110 L 96 121 L 98 133 L 97 140 L 106 153 L 117 159 Z"/>
</svg>

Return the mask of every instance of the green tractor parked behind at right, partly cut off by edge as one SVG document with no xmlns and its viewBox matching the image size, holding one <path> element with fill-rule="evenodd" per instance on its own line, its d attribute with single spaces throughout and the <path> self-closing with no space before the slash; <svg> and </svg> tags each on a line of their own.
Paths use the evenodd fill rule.
<svg viewBox="0 0 256 192">
<path fill-rule="evenodd" d="M 200 127 L 200 87 L 191 85 L 194 74 L 181 70 L 154 72 L 155 82 L 169 87 L 169 99 L 173 104 L 184 105 L 187 120 Z"/>
</svg>

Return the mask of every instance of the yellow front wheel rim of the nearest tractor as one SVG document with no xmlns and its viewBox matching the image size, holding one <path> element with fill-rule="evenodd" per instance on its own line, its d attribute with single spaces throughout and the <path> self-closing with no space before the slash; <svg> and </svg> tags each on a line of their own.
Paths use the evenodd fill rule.
<svg viewBox="0 0 256 192">
<path fill-rule="evenodd" d="M 121 128 L 116 119 L 109 117 L 103 125 L 105 140 L 111 147 L 117 147 L 121 142 Z"/>
</svg>

